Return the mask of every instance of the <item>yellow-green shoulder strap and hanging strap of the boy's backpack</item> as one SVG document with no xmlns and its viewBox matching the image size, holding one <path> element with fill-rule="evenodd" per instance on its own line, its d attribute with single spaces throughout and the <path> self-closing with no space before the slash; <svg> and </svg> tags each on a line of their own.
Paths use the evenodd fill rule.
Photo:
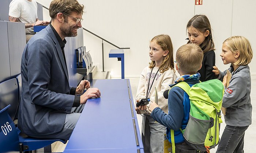
<svg viewBox="0 0 256 153">
<path fill-rule="evenodd" d="M 180 87 L 182 90 L 184 90 L 184 91 L 188 94 L 188 96 L 190 95 L 190 94 L 189 94 L 190 86 L 188 85 L 187 82 L 181 81 L 181 82 L 177 83 L 176 85 L 174 85 L 173 87 Z M 172 88 L 173 88 L 173 87 L 172 87 Z M 172 88 L 171 88 L 171 89 L 172 89 Z M 171 89 L 170 89 L 170 90 L 171 90 Z M 169 94 L 170 90 L 168 91 L 168 94 Z M 182 129 L 180 128 L 180 131 L 181 131 L 181 133 L 183 134 L 184 131 L 185 131 L 185 129 L 182 130 Z M 175 153 L 174 130 L 171 129 L 170 132 L 171 132 L 171 141 L 172 141 L 172 153 Z"/>
</svg>

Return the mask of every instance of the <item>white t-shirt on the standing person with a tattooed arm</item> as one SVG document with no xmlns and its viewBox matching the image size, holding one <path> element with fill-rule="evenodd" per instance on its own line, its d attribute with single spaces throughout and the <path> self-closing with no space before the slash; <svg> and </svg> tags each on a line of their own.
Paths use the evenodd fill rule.
<svg viewBox="0 0 256 153">
<path fill-rule="evenodd" d="M 12 0 L 9 16 L 19 18 L 22 23 L 35 23 L 37 19 L 37 2 L 35 0 Z M 26 28 L 26 34 L 34 34 L 34 28 Z"/>
</svg>

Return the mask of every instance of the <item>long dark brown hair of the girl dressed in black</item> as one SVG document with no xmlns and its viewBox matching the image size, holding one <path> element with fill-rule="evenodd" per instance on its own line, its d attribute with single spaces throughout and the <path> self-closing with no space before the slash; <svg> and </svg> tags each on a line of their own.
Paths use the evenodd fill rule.
<svg viewBox="0 0 256 153">
<path fill-rule="evenodd" d="M 200 48 L 203 50 L 203 53 L 211 50 L 215 50 L 214 48 L 214 42 L 212 40 L 212 34 L 211 34 L 211 24 L 208 20 L 207 16 L 205 15 L 195 15 L 193 16 L 187 24 L 187 29 L 189 27 L 194 27 L 198 31 L 204 33 L 207 30 L 209 30 L 209 35 L 204 39 L 204 42 L 200 44 Z M 191 43 L 190 40 L 188 40 L 188 44 Z"/>
</svg>

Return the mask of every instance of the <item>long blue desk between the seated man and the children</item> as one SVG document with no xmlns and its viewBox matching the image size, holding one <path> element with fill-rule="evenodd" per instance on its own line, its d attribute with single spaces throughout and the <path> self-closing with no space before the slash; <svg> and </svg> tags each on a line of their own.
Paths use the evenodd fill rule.
<svg viewBox="0 0 256 153">
<path fill-rule="evenodd" d="M 101 98 L 88 99 L 65 153 L 143 153 L 129 79 L 99 79 Z"/>
</svg>

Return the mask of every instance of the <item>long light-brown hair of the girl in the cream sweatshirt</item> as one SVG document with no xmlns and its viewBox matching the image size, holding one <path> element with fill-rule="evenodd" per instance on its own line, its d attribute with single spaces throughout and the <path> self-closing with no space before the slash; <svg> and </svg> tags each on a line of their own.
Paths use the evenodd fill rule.
<svg viewBox="0 0 256 153">
<path fill-rule="evenodd" d="M 171 68 L 174 70 L 174 59 L 173 59 L 173 43 L 169 35 L 157 35 L 151 39 L 150 42 L 155 41 L 164 51 L 168 50 L 168 54 L 164 56 L 163 62 L 159 67 L 159 71 L 165 72 Z M 155 61 L 149 62 L 149 68 L 155 67 Z M 175 70 L 174 70 L 175 72 Z"/>
</svg>

